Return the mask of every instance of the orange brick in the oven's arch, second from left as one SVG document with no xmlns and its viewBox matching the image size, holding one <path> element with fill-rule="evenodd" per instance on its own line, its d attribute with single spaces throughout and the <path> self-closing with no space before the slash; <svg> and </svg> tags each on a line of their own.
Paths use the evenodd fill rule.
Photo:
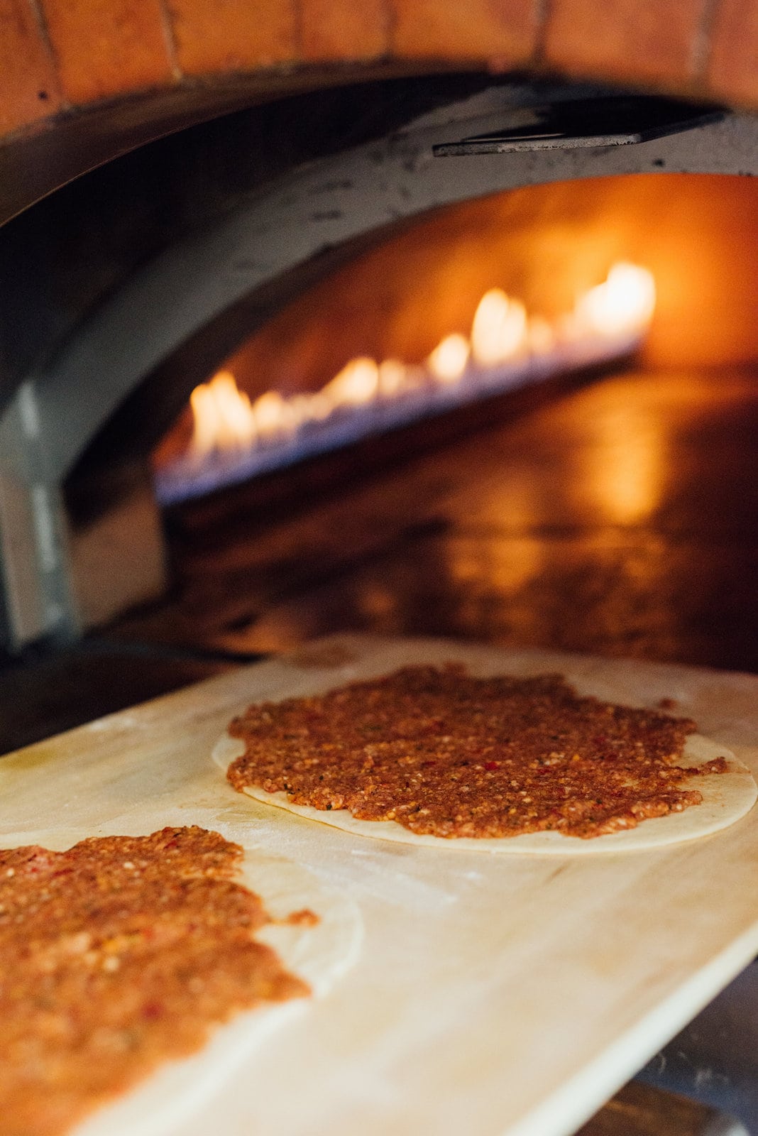
<svg viewBox="0 0 758 1136">
<path fill-rule="evenodd" d="M 172 78 L 160 0 L 43 0 L 65 95 L 75 103 Z"/>
</svg>

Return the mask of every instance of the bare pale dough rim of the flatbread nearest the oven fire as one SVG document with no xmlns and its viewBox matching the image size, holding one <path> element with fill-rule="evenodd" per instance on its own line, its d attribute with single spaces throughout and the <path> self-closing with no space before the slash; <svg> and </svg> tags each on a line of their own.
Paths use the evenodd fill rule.
<svg viewBox="0 0 758 1136">
<path fill-rule="evenodd" d="M 241 738 L 225 734 L 213 749 L 213 760 L 224 770 L 245 752 Z M 681 841 L 697 840 L 709 836 L 722 828 L 733 825 L 735 820 L 750 811 L 758 797 L 758 786 L 752 774 L 734 754 L 723 745 L 717 745 L 700 734 L 691 734 L 684 746 L 684 752 L 677 765 L 696 767 L 715 758 L 726 758 L 728 769 L 723 774 L 692 778 L 692 785 L 683 783 L 681 788 L 697 788 L 702 794 L 700 804 L 691 805 L 683 812 L 669 812 L 665 817 L 655 817 L 641 821 L 637 828 L 628 828 L 620 833 L 609 833 L 581 840 L 576 836 L 563 836 L 561 833 L 524 833 L 521 836 L 508 837 L 453 837 L 420 835 L 405 828 L 394 820 L 359 820 L 347 809 L 329 811 L 313 809 L 310 805 L 293 804 L 286 793 L 267 793 L 258 786 L 246 786 L 244 792 L 263 804 L 286 809 L 298 817 L 318 820 L 319 824 L 342 828 L 355 836 L 370 836 L 374 840 L 395 841 L 398 844 L 423 844 L 428 847 L 444 846 L 446 849 L 468 849 L 477 852 L 494 852 L 506 855 L 597 855 L 604 852 L 645 851 L 677 844 Z"/>
</svg>

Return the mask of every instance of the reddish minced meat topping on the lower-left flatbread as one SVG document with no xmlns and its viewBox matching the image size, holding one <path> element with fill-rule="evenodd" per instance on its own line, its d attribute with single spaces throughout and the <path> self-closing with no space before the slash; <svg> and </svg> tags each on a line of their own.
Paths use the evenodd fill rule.
<svg viewBox="0 0 758 1136">
<path fill-rule="evenodd" d="M 0 851 L 3 1136 L 65 1133 L 237 1011 L 308 994 L 253 938 L 242 854 L 197 827 Z"/>
</svg>

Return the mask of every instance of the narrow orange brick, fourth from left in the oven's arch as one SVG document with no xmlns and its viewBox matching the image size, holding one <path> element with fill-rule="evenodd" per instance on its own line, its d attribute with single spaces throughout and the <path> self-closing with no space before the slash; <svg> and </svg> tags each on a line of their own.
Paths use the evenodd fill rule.
<svg viewBox="0 0 758 1136">
<path fill-rule="evenodd" d="M 376 59 L 389 49 L 385 0 L 301 0 L 303 58 Z"/>
</svg>

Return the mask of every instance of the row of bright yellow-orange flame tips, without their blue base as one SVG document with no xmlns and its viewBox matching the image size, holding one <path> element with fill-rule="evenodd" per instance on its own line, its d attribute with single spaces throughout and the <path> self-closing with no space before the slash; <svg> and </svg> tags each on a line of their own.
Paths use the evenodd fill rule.
<svg viewBox="0 0 758 1136">
<path fill-rule="evenodd" d="M 252 404 L 237 389 L 234 375 L 221 370 L 192 392 L 191 459 L 201 461 L 214 451 L 251 451 L 276 438 L 294 437 L 309 421 L 323 421 L 340 409 L 396 399 L 423 384 L 452 387 L 465 381 L 472 361 L 477 371 L 527 367 L 530 359 L 554 361 L 557 369 L 562 344 L 607 342 L 612 346 L 618 341 L 618 350 L 629 348 L 647 329 L 655 300 L 652 275 L 637 265 L 618 262 L 603 284 L 580 295 L 573 312 L 555 324 L 529 316 L 520 300 L 502 289 L 490 289 L 479 301 L 471 336 L 458 332 L 446 335 L 421 368 L 397 359 L 377 364 L 360 357 L 351 359 L 315 394 L 284 398 L 267 391 Z M 568 357 L 566 364 L 571 365 Z"/>
</svg>

